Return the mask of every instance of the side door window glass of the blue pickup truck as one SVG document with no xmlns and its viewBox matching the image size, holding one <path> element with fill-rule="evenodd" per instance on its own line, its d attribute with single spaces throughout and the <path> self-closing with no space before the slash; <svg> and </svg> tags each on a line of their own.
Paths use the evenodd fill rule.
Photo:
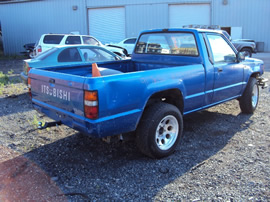
<svg viewBox="0 0 270 202">
<path fill-rule="evenodd" d="M 212 49 L 214 63 L 236 62 L 235 52 L 222 36 L 207 34 L 207 38 Z"/>
</svg>

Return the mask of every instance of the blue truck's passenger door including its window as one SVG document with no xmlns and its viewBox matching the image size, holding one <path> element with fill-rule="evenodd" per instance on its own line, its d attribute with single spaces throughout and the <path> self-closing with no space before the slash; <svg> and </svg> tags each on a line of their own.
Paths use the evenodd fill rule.
<svg viewBox="0 0 270 202">
<path fill-rule="evenodd" d="M 213 54 L 214 95 L 212 103 L 235 98 L 241 94 L 244 79 L 244 65 L 237 62 L 236 53 L 225 37 L 207 34 Z"/>
</svg>

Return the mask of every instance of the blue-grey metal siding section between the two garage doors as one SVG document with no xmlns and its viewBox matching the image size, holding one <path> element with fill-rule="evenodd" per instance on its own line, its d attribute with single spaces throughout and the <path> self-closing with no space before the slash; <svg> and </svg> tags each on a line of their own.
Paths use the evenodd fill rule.
<svg viewBox="0 0 270 202">
<path fill-rule="evenodd" d="M 127 37 L 136 37 L 145 29 L 168 27 L 168 5 L 126 6 Z"/>
</svg>

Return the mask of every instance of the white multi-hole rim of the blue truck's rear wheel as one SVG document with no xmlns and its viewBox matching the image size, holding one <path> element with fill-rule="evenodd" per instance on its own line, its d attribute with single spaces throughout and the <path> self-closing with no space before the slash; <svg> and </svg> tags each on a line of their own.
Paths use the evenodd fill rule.
<svg viewBox="0 0 270 202">
<path fill-rule="evenodd" d="M 161 150 L 170 149 L 177 140 L 179 133 L 178 120 L 168 115 L 164 117 L 158 124 L 156 130 L 156 144 Z"/>
</svg>

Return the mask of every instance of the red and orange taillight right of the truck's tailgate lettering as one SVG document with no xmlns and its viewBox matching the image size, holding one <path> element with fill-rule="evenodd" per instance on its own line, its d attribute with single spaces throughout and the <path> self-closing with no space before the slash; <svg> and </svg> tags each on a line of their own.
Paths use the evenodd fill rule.
<svg viewBox="0 0 270 202">
<path fill-rule="evenodd" d="M 84 91 L 84 114 L 89 119 L 98 118 L 97 91 Z"/>
</svg>

